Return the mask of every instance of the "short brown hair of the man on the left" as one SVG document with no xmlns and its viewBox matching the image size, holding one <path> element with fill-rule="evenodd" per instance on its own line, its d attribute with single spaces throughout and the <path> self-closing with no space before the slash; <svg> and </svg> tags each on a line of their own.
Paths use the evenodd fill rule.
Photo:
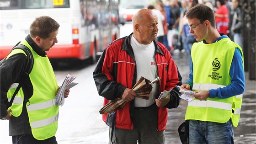
<svg viewBox="0 0 256 144">
<path fill-rule="evenodd" d="M 37 17 L 29 27 L 31 37 L 48 38 L 51 32 L 59 29 L 59 23 L 50 16 Z"/>
</svg>

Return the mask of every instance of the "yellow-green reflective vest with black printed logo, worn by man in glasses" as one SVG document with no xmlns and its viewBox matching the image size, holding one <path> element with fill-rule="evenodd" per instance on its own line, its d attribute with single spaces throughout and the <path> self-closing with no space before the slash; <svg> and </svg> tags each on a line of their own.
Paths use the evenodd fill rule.
<svg viewBox="0 0 256 144">
<path fill-rule="evenodd" d="M 205 44 L 194 43 L 191 57 L 193 62 L 192 91 L 223 88 L 231 84 L 229 69 L 235 53 L 242 49 L 229 38 L 219 42 Z M 225 99 L 207 98 L 205 101 L 193 99 L 188 102 L 185 119 L 208 122 L 226 123 L 231 118 L 237 127 L 242 105 L 242 95 L 231 96 Z M 232 112 L 233 111 L 233 112 Z"/>
</svg>

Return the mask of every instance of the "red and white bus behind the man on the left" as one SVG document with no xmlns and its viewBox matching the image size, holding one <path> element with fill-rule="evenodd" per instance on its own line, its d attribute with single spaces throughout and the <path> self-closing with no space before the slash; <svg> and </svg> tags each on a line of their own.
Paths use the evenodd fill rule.
<svg viewBox="0 0 256 144">
<path fill-rule="evenodd" d="M 58 43 L 47 52 L 50 59 L 94 63 L 98 52 L 119 37 L 118 0 L 0 0 L 0 59 L 43 15 L 60 24 Z"/>
</svg>

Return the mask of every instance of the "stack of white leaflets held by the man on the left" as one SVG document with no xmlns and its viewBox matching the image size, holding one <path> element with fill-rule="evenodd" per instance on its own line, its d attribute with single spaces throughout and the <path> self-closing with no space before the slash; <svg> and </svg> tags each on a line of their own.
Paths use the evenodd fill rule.
<svg viewBox="0 0 256 144">
<path fill-rule="evenodd" d="M 66 89 L 70 89 L 72 88 L 73 86 L 77 85 L 78 83 L 75 83 L 75 82 L 72 82 L 73 80 L 75 80 L 76 76 L 73 75 L 69 75 L 67 74 L 65 80 L 63 81 L 62 85 L 60 86 L 59 88 L 59 91 L 55 97 L 56 99 L 56 103 L 59 105 L 59 106 L 63 106 L 64 105 L 64 101 L 65 101 L 65 91 Z"/>
</svg>

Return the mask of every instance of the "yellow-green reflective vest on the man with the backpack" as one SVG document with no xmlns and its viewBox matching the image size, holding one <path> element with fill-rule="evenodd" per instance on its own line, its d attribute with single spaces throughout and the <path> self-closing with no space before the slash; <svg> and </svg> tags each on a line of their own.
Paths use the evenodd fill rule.
<svg viewBox="0 0 256 144">
<path fill-rule="evenodd" d="M 59 106 L 55 100 L 59 88 L 58 83 L 48 57 L 39 56 L 26 40 L 20 44 L 30 49 L 34 59 L 33 68 L 29 74 L 33 94 L 26 104 L 32 134 L 38 140 L 48 139 L 55 135 L 58 128 Z M 15 49 L 8 55 L 8 58 L 15 53 L 24 53 L 24 51 Z M 7 93 L 8 99 L 11 99 L 17 85 L 13 84 L 10 87 Z M 21 88 L 10 107 L 14 117 L 20 116 L 23 102 L 24 94 Z"/>
</svg>

